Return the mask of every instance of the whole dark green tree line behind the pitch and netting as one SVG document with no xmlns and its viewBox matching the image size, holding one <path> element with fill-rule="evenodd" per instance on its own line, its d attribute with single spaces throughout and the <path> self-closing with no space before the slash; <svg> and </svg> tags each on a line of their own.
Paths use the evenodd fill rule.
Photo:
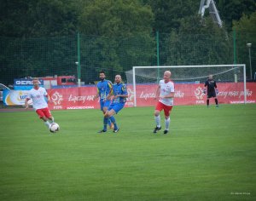
<svg viewBox="0 0 256 201">
<path fill-rule="evenodd" d="M 0 0 L 0 67 L 9 73 L 0 80 L 76 74 L 78 32 L 86 82 L 104 68 L 114 74 L 157 65 L 156 32 L 160 65 L 232 63 L 234 32 L 236 62 L 248 64 L 245 44 L 256 45 L 256 4 L 215 2 L 221 29 L 208 13 L 201 23 L 200 0 Z"/>
</svg>

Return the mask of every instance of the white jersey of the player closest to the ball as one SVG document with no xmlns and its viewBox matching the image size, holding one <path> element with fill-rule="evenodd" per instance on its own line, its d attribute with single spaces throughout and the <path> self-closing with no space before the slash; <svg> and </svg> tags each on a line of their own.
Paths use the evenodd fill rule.
<svg viewBox="0 0 256 201">
<path fill-rule="evenodd" d="M 31 89 L 28 92 L 27 98 L 32 99 L 32 105 L 35 110 L 43 109 L 48 107 L 44 96 L 47 95 L 47 92 L 44 88 L 39 87 L 38 89 Z"/>
</svg>

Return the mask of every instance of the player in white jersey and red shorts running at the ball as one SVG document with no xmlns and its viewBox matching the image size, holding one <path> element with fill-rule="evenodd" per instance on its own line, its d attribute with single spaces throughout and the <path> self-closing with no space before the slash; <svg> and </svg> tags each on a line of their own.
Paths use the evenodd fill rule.
<svg viewBox="0 0 256 201">
<path fill-rule="evenodd" d="M 54 122 L 48 104 L 45 97 L 49 100 L 49 95 L 46 90 L 39 86 L 38 78 L 33 78 L 32 80 L 33 88 L 28 92 L 27 98 L 25 100 L 25 108 L 28 108 L 28 100 L 32 99 L 32 105 L 34 110 L 38 113 L 39 118 L 41 118 L 47 128 L 49 128 L 50 123 Z"/>
</svg>

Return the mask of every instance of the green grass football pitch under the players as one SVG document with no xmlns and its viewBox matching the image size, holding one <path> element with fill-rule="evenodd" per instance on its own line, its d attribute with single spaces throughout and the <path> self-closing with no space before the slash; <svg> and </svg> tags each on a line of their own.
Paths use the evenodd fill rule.
<svg viewBox="0 0 256 201">
<path fill-rule="evenodd" d="M 0 113 L 0 200 L 256 200 L 256 105 L 124 108 L 119 133 L 99 110 Z"/>
</svg>

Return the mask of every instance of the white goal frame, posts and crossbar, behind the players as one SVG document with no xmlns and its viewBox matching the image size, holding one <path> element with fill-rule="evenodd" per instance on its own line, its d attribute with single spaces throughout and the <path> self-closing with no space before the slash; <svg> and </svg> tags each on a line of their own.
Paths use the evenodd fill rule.
<svg viewBox="0 0 256 201">
<path fill-rule="evenodd" d="M 133 66 L 132 67 L 132 84 L 133 84 L 133 92 L 134 92 L 134 106 L 137 106 L 137 93 L 136 93 L 136 74 L 135 70 L 138 68 L 193 68 L 193 67 L 238 67 L 241 66 L 243 68 L 243 90 L 244 90 L 244 104 L 247 103 L 247 79 L 246 79 L 246 65 L 245 64 L 229 64 L 229 65 L 200 65 L 200 66 Z"/>
</svg>

